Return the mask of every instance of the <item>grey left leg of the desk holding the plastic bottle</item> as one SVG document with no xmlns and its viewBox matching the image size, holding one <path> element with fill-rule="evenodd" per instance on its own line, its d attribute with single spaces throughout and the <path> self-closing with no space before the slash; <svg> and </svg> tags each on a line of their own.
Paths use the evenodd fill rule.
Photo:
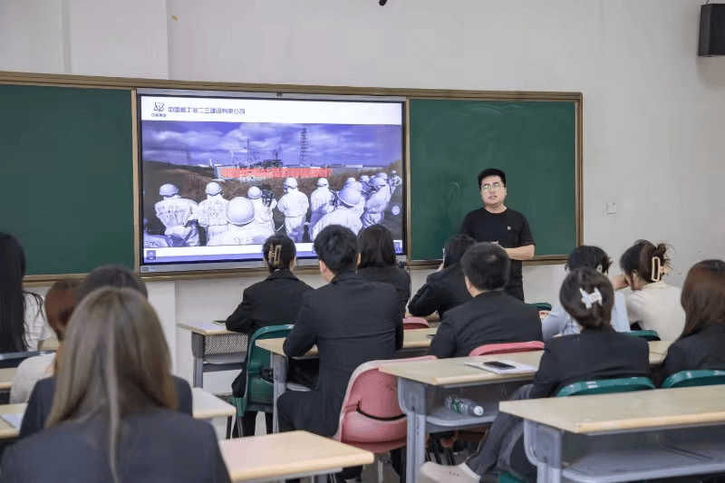
<svg viewBox="0 0 725 483">
<path fill-rule="evenodd" d="M 420 467 L 425 462 L 426 385 L 398 378 L 398 402 L 408 416 L 408 449 L 406 453 L 406 482 L 416 483 Z"/>
</svg>

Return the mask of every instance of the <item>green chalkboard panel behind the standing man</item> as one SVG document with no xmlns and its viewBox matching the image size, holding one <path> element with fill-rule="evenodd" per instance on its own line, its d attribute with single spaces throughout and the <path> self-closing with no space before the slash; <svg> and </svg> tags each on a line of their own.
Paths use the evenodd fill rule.
<svg viewBox="0 0 725 483">
<path fill-rule="evenodd" d="M 463 217 L 481 208 L 478 173 L 507 175 L 536 256 L 576 246 L 575 101 L 411 99 L 411 259 L 440 259 Z"/>
</svg>

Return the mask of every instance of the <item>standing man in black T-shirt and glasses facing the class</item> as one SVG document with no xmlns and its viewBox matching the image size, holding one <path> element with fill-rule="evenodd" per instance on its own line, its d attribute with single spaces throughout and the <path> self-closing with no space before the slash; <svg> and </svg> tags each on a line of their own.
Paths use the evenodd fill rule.
<svg viewBox="0 0 725 483">
<path fill-rule="evenodd" d="M 507 208 L 506 174 L 500 169 L 484 169 L 478 174 L 478 188 L 483 208 L 471 211 L 463 219 L 460 233 L 476 241 L 500 245 L 511 258 L 511 269 L 506 285 L 508 295 L 524 300 L 522 260 L 534 257 L 534 236 L 527 218 L 518 211 Z"/>
</svg>

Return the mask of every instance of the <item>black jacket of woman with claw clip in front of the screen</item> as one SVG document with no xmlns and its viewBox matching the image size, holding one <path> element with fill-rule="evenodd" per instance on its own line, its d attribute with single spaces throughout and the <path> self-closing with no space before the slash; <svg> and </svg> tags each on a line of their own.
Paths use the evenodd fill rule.
<svg viewBox="0 0 725 483">
<path fill-rule="evenodd" d="M 269 325 L 293 324 L 302 295 L 309 290 L 313 288 L 290 270 L 275 270 L 245 289 L 242 303 L 227 318 L 227 330 L 252 335 Z"/>
</svg>

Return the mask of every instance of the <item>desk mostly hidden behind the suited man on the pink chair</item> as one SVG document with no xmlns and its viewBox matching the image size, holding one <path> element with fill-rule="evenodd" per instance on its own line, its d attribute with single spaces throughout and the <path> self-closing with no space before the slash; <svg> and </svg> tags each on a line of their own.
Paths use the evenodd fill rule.
<svg viewBox="0 0 725 483">
<path fill-rule="evenodd" d="M 435 334 L 437 329 L 411 329 L 403 333 L 402 349 L 398 351 L 398 354 L 402 355 L 423 355 L 427 352 L 430 347 L 430 335 Z M 274 391 L 275 391 L 275 422 L 274 430 L 279 430 L 277 423 L 277 399 L 287 389 L 287 356 L 283 346 L 285 339 L 262 339 L 256 341 L 256 346 L 266 349 L 272 354 L 272 373 L 274 377 Z M 317 357 L 317 346 L 314 346 L 308 353 L 302 357 Z"/>
</svg>

